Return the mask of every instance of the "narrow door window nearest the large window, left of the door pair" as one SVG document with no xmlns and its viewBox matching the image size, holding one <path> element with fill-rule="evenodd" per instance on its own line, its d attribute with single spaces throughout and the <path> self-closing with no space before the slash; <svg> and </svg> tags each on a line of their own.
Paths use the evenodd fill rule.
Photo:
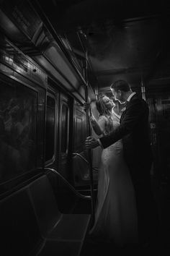
<svg viewBox="0 0 170 256">
<path fill-rule="evenodd" d="M 55 153 L 55 98 L 47 96 L 45 161 L 54 158 Z"/>
</svg>

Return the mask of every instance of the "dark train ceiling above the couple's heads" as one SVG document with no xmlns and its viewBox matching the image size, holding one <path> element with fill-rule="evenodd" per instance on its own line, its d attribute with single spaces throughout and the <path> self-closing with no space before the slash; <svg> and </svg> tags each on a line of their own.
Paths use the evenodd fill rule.
<svg viewBox="0 0 170 256">
<path fill-rule="evenodd" d="M 170 82 L 167 1 L 37 1 L 56 33 L 89 62 L 89 80 L 109 91 L 117 79 L 134 87 Z"/>
</svg>

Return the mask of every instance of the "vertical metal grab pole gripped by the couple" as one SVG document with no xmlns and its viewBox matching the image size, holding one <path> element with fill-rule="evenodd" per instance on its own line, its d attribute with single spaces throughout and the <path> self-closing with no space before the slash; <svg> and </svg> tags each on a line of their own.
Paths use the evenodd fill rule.
<svg viewBox="0 0 170 256">
<path fill-rule="evenodd" d="M 85 101 L 89 103 L 89 85 L 87 79 L 87 51 L 86 51 L 86 60 L 85 60 L 85 67 L 84 67 L 84 77 L 86 80 L 86 87 L 85 87 Z M 86 111 L 86 120 L 87 120 L 87 134 L 91 136 L 91 127 L 90 127 L 90 120 L 89 120 L 89 111 Z M 92 158 L 91 158 L 91 149 L 87 151 L 87 157 L 89 161 L 89 175 L 91 180 L 91 226 L 94 224 L 95 214 L 94 214 L 94 179 L 93 179 L 93 168 L 92 168 Z"/>
</svg>

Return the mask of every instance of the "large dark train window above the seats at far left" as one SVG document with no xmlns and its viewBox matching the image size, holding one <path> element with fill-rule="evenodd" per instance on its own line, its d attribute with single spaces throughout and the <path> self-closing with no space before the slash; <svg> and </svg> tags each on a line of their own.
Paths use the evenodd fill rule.
<svg viewBox="0 0 170 256">
<path fill-rule="evenodd" d="M 0 80 L 0 179 L 6 182 L 36 167 L 37 92 Z"/>
</svg>

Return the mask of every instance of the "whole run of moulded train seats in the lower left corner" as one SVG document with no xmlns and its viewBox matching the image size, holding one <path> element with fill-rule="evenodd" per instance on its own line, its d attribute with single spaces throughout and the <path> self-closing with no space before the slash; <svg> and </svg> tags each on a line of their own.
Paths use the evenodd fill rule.
<svg viewBox="0 0 170 256">
<path fill-rule="evenodd" d="M 43 174 L 0 201 L 0 254 L 78 256 L 89 221 L 89 214 L 58 210 L 53 189 Z"/>
</svg>

